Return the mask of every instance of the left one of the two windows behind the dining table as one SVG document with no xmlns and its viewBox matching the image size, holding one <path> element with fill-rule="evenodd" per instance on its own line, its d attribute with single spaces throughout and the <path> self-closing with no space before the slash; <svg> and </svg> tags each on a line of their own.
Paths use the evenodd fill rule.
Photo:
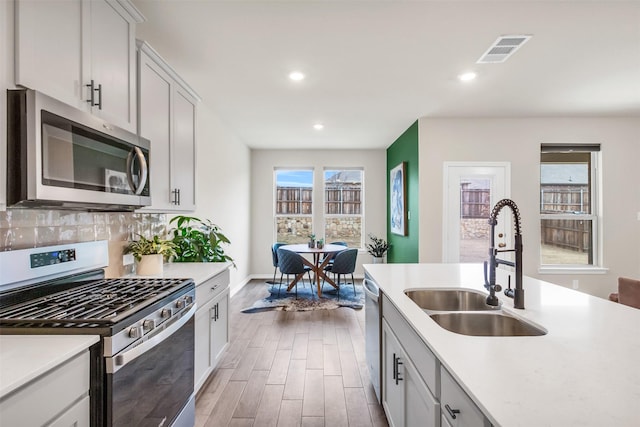
<svg viewBox="0 0 640 427">
<path fill-rule="evenodd" d="M 313 170 L 275 171 L 276 241 L 306 243 L 313 233 Z"/>
</svg>

